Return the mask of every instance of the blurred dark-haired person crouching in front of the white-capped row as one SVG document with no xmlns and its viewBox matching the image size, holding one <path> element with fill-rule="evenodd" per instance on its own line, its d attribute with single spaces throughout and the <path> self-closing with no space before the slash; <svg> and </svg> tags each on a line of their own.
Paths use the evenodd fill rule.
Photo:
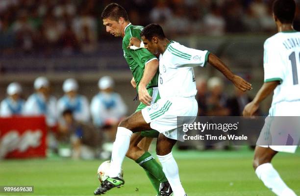
<svg viewBox="0 0 300 196">
<path fill-rule="evenodd" d="M 88 123 L 78 122 L 71 110 L 62 113 L 65 124 L 59 127 L 59 133 L 72 145 L 72 157 L 75 159 L 93 159 L 99 155 L 101 137 L 99 131 Z"/>
</svg>

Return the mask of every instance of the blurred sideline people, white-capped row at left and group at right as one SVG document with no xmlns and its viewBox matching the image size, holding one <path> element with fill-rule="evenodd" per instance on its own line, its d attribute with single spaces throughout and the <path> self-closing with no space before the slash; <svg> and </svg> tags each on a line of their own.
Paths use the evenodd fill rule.
<svg viewBox="0 0 300 196">
<path fill-rule="evenodd" d="M 228 97 L 219 77 L 199 77 L 196 84 L 198 116 L 242 116 L 245 105 L 251 101 L 237 88 Z M 98 87 L 99 93 L 89 101 L 77 93 L 77 81 L 68 78 L 62 85 L 64 95 L 56 99 L 50 94 L 49 80 L 38 77 L 33 84 L 34 93 L 25 100 L 22 86 L 13 82 L 7 87 L 7 97 L 0 102 L 0 117 L 45 116 L 50 150 L 59 153 L 60 146 L 69 145 L 72 151 L 60 153 L 62 156 L 108 158 L 118 123 L 127 115 L 127 106 L 114 92 L 110 76 L 101 77 Z"/>
</svg>

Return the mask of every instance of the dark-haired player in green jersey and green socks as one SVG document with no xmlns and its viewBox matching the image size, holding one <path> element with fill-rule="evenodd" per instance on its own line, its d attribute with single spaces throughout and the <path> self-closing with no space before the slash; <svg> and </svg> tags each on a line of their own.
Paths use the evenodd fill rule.
<svg viewBox="0 0 300 196">
<path fill-rule="evenodd" d="M 107 5 L 101 15 L 103 25 L 106 26 L 106 32 L 115 37 L 123 38 L 124 57 L 133 74 L 131 84 L 139 94 L 141 104 L 136 112 L 142 110 L 147 105 L 154 103 L 159 99 L 157 80 L 158 80 L 158 59 L 147 49 L 132 50 L 128 48 L 131 37 L 140 38 L 143 26 L 132 25 L 129 22 L 126 10 L 117 3 Z M 153 138 L 157 137 L 157 131 L 145 131 L 141 134 L 133 134 L 130 138 L 130 147 L 126 156 L 138 163 L 147 173 L 156 192 L 159 194 L 160 187 L 170 187 L 168 180 L 162 171 L 162 167 L 154 160 L 148 152 L 148 148 Z M 141 148 L 143 147 L 143 148 Z M 171 187 L 170 187 L 171 189 Z M 95 195 L 98 194 L 97 191 Z M 172 191 L 170 192 L 170 195 Z"/>
</svg>

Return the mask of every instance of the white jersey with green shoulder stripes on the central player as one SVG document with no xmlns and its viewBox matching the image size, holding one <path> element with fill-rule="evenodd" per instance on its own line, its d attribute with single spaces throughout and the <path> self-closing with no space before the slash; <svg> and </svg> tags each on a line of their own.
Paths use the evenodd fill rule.
<svg viewBox="0 0 300 196">
<path fill-rule="evenodd" d="M 209 52 L 171 42 L 159 59 L 158 90 L 161 98 L 194 97 L 197 94 L 193 67 L 205 67 Z"/>
</svg>

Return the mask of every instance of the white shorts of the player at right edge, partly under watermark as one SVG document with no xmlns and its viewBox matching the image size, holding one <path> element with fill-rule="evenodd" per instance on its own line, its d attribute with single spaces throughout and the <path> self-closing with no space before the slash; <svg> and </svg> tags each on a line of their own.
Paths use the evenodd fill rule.
<svg viewBox="0 0 300 196">
<path fill-rule="evenodd" d="M 257 146 L 295 153 L 300 142 L 300 110 L 295 108 L 300 108 L 300 101 L 284 101 L 272 105 L 258 137 Z M 286 145 L 293 146 L 278 146 L 285 141 Z"/>
</svg>

